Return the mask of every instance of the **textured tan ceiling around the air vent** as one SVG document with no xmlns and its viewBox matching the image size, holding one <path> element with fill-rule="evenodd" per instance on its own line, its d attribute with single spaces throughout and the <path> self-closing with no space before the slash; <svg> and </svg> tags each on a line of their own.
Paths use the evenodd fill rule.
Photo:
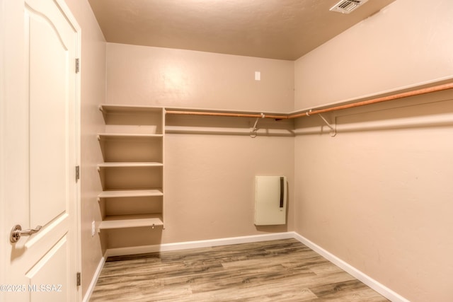
<svg viewBox="0 0 453 302">
<path fill-rule="evenodd" d="M 107 42 L 294 60 L 394 0 L 88 0 Z"/>
</svg>

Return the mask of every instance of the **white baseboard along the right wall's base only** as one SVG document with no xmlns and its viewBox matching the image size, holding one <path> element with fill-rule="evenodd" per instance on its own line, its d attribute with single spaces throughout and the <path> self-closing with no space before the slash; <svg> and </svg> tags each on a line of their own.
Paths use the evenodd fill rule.
<svg viewBox="0 0 453 302">
<path fill-rule="evenodd" d="M 371 287 L 372 289 L 377 291 L 379 294 L 382 294 L 382 296 L 388 298 L 390 301 L 392 301 L 392 302 L 409 302 L 408 299 L 396 294 L 394 291 L 392 291 L 388 287 L 384 286 L 383 284 L 380 284 L 378 281 L 372 279 L 367 274 L 360 272 L 360 270 L 356 269 L 355 267 L 352 267 L 352 265 L 349 265 L 347 262 L 344 262 L 340 258 L 336 257 L 336 255 L 333 255 L 330 252 L 328 252 L 327 250 L 324 250 L 319 245 L 316 245 L 315 243 L 311 242 L 304 236 L 301 236 L 298 233 L 294 232 L 294 239 L 299 240 L 301 243 L 303 243 L 304 245 L 311 248 L 311 250 L 314 250 L 319 255 L 323 256 L 324 258 L 326 258 L 327 260 L 332 262 L 334 265 L 340 267 L 345 272 L 352 275 L 352 277 L 355 277 L 357 280 L 362 281 L 364 284 Z"/>
</svg>

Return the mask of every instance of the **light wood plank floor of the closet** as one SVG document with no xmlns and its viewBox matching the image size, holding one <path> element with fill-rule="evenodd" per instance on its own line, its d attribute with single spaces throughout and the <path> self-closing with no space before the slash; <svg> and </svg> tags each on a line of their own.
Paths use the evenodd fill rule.
<svg viewBox="0 0 453 302">
<path fill-rule="evenodd" d="M 109 257 L 95 301 L 388 301 L 294 239 Z"/>
</svg>

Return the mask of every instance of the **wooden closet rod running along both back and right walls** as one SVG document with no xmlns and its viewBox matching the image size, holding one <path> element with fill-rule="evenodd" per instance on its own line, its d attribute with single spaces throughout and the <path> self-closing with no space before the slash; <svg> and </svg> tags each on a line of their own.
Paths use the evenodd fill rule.
<svg viewBox="0 0 453 302">
<path fill-rule="evenodd" d="M 270 118 L 270 119 L 275 119 L 275 120 L 287 120 L 287 119 L 295 119 L 297 117 L 309 117 L 311 115 L 318 115 L 320 113 L 348 109 L 348 108 L 355 108 L 355 107 L 371 105 L 371 104 L 375 104 L 375 103 L 382 103 L 382 102 L 387 102 L 389 100 L 398 100 L 399 98 L 408 98 L 410 96 L 415 96 L 415 95 L 422 95 L 422 94 L 433 93 L 433 92 L 437 92 L 437 91 L 445 91 L 447 89 L 452 89 L 452 88 L 453 88 L 453 82 L 441 84 L 441 85 L 437 85 L 437 86 L 431 86 L 428 88 L 415 89 L 413 91 L 407 91 L 407 92 L 403 92 L 403 93 L 396 93 L 393 95 L 382 96 L 379 98 L 373 98 L 371 100 L 362 100 L 362 101 L 356 102 L 356 103 L 338 105 L 338 106 L 333 106 L 333 107 L 328 107 L 328 108 L 323 108 L 323 109 L 318 109 L 318 110 L 309 110 L 309 111 L 304 111 L 304 112 L 294 113 L 294 114 L 289 114 L 289 115 L 265 115 L 265 114 L 263 115 L 263 114 L 258 114 L 258 113 L 248 114 L 248 113 L 235 113 L 235 112 L 176 111 L 176 110 L 168 110 L 168 111 L 166 111 L 166 113 L 170 114 L 170 115 L 210 115 L 210 116 L 217 116 L 217 117 L 256 117 L 256 118 L 263 117 L 263 118 Z"/>
</svg>

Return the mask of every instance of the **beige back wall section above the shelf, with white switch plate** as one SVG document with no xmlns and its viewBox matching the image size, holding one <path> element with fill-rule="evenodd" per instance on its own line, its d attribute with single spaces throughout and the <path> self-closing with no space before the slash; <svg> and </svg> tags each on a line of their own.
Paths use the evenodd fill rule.
<svg viewBox="0 0 453 302">
<path fill-rule="evenodd" d="M 108 103 L 271 112 L 294 106 L 292 61 L 115 43 L 107 53 Z"/>
</svg>

